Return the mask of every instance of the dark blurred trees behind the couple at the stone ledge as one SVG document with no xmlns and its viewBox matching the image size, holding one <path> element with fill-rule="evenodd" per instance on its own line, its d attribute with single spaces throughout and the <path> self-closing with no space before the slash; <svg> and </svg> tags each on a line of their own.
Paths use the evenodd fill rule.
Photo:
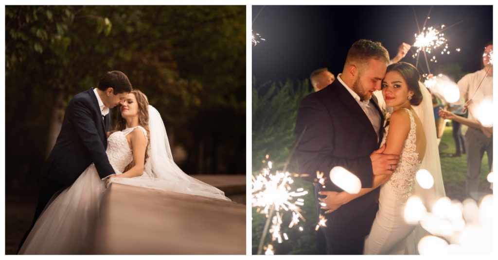
<svg viewBox="0 0 498 260">
<path fill-rule="evenodd" d="M 7 191 L 37 188 L 67 103 L 112 70 L 159 110 L 182 170 L 245 173 L 245 6 L 6 6 L 5 27 Z"/>
</svg>

